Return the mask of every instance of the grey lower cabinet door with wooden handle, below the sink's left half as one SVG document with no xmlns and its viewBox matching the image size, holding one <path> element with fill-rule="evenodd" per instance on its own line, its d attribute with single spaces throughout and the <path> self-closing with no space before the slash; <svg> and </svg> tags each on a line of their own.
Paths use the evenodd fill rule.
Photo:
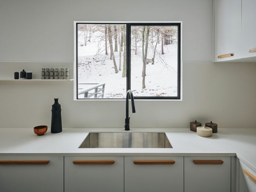
<svg viewBox="0 0 256 192">
<path fill-rule="evenodd" d="M 64 159 L 65 192 L 124 191 L 124 156 L 65 156 Z"/>
</svg>

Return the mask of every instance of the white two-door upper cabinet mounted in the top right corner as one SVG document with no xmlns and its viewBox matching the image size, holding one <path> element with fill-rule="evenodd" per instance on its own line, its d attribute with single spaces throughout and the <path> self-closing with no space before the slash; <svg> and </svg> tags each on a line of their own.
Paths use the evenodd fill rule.
<svg viewBox="0 0 256 192">
<path fill-rule="evenodd" d="M 214 0 L 214 62 L 256 62 L 255 0 Z M 235 62 L 234 61 L 234 62 Z"/>
</svg>

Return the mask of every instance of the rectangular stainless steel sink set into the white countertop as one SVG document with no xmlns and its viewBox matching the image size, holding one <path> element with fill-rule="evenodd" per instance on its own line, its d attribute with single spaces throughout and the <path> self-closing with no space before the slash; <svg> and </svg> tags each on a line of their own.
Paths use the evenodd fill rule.
<svg viewBox="0 0 256 192">
<path fill-rule="evenodd" d="M 79 148 L 173 148 L 165 133 L 89 133 Z"/>
</svg>

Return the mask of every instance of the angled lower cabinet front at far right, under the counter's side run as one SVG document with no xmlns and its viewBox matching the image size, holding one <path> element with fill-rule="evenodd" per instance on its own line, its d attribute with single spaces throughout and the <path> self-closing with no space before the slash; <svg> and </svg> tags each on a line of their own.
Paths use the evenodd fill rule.
<svg viewBox="0 0 256 192">
<path fill-rule="evenodd" d="M 244 172 L 245 171 L 245 172 Z M 250 178 L 250 177 L 254 177 Z M 244 162 L 239 160 L 239 191 L 256 192 L 256 172 L 249 168 Z"/>
</svg>

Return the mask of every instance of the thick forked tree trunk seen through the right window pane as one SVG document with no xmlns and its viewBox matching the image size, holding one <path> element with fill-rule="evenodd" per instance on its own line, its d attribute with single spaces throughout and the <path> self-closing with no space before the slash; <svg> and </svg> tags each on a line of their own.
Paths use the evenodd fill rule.
<svg viewBox="0 0 256 192">
<path fill-rule="evenodd" d="M 143 26 L 143 33 L 142 33 L 142 58 L 143 58 L 143 69 L 142 69 L 142 88 L 146 88 L 145 85 L 145 76 L 146 76 L 146 60 L 148 55 L 148 44 L 149 44 L 149 26 L 147 26 L 147 33 L 146 33 L 146 44 L 145 44 L 145 52 L 144 52 L 144 32 L 145 26 Z"/>
</svg>

